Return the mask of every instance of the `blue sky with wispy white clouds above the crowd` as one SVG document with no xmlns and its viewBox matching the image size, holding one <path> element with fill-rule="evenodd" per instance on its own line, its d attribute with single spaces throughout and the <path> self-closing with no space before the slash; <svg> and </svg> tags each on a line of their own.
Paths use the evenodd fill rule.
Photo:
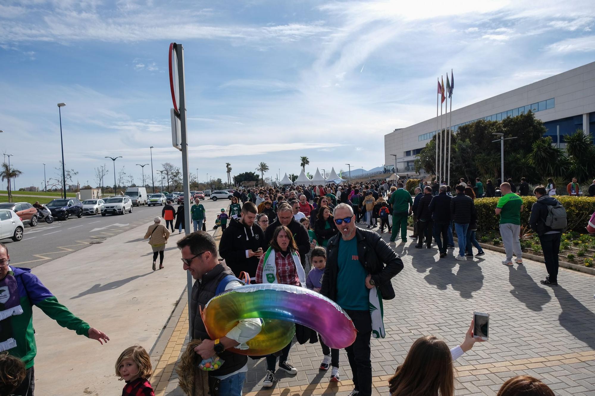
<svg viewBox="0 0 595 396">
<path fill-rule="evenodd" d="M 384 134 L 593 61 L 595 2 L 99 1 L 0 3 L 0 152 L 41 186 L 60 160 L 81 184 L 112 165 L 181 165 L 171 146 L 170 42 L 184 46 L 190 171 L 226 180 L 299 157 L 383 165 Z M 110 161 L 109 159 L 107 161 Z M 148 169 L 148 167 L 145 167 Z M 118 171 L 118 169 L 117 169 Z M 146 172 L 147 173 L 147 172 Z M 107 181 L 106 181 L 107 183 Z M 111 182 L 112 183 L 112 182 Z M 5 188 L 2 187 L 2 188 Z"/>
</svg>

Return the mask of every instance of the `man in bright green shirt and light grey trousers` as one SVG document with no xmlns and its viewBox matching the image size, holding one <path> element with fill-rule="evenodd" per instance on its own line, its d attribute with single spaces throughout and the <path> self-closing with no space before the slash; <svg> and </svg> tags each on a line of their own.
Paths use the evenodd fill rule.
<svg viewBox="0 0 595 396">
<path fill-rule="evenodd" d="M 506 260 L 502 260 L 502 263 L 513 265 L 512 253 L 514 253 L 516 255 L 515 262 L 522 264 L 521 241 L 519 240 L 522 198 L 512 192 L 511 185 L 508 183 L 500 184 L 500 191 L 502 191 L 502 197 L 496 205 L 496 215 L 500 215 L 500 235 L 502 235 L 502 243 L 506 250 Z"/>
</svg>

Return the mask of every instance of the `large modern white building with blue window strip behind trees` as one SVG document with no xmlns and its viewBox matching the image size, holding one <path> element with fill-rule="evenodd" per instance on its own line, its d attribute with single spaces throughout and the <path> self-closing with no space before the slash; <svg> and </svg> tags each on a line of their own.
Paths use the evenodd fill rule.
<svg viewBox="0 0 595 396">
<path fill-rule="evenodd" d="M 529 110 L 544 122 L 546 136 L 554 143 L 558 133 L 562 144 L 563 136 L 577 129 L 595 134 L 595 62 L 453 110 L 452 130 L 482 118 L 500 121 Z M 397 173 L 413 172 L 415 155 L 436 134 L 436 121 L 430 118 L 384 135 L 384 164 L 394 164 L 396 155 Z"/>
</svg>

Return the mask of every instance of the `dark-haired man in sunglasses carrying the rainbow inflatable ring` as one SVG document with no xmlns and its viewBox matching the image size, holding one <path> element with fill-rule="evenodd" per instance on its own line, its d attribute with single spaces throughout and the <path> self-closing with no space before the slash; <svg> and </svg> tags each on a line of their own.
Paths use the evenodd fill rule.
<svg viewBox="0 0 595 396">
<path fill-rule="evenodd" d="M 190 294 L 189 320 L 192 338 L 202 342 L 194 350 L 202 359 L 217 354 L 224 361 L 217 370 L 208 372 L 210 394 L 241 396 L 248 372 L 248 356 L 233 353 L 233 350 L 248 349 L 246 342 L 261 331 L 261 320 L 240 320 L 224 337 L 211 340 L 202 322 L 201 308 L 204 309 L 217 293 L 240 287 L 242 282 L 234 276 L 225 261 L 219 262 L 217 244 L 208 233 L 192 232 L 179 240 L 177 246 L 181 250 L 184 271 L 189 271 L 195 279 Z"/>
</svg>

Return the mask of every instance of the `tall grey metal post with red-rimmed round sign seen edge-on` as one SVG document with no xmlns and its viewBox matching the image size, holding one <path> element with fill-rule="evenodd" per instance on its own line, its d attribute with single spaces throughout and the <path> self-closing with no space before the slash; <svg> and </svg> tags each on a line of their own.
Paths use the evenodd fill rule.
<svg viewBox="0 0 595 396">
<path fill-rule="evenodd" d="M 174 108 L 171 110 L 171 124 L 172 124 L 172 144 L 182 152 L 182 183 L 184 191 L 184 203 L 187 208 L 184 210 L 184 232 L 186 235 L 190 234 L 190 186 L 189 186 L 189 173 L 188 173 L 188 140 L 187 140 L 187 128 L 186 128 L 186 98 L 184 91 L 186 85 L 184 83 L 184 47 L 181 44 L 171 43 L 170 54 L 170 89 L 171 89 L 171 100 Z M 179 131 L 177 132 L 177 122 L 179 124 Z M 178 139 L 179 136 L 179 140 Z M 178 147 L 178 143 L 179 146 Z M 190 271 L 186 271 L 187 280 L 187 294 L 188 294 L 188 306 L 190 306 L 190 296 L 192 294 L 192 275 Z M 193 332 L 193 321 L 189 320 L 189 331 L 190 337 Z"/>
</svg>

